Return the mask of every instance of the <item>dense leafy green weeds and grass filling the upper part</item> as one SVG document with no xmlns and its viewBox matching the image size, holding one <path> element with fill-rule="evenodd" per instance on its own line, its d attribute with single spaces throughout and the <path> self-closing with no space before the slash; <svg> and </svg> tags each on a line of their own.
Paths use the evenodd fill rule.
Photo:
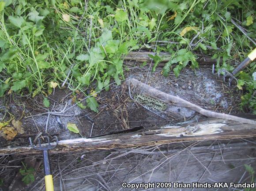
<svg viewBox="0 0 256 191">
<path fill-rule="evenodd" d="M 2 0 L 0 2 L 0 96 L 17 92 L 48 96 L 64 84 L 86 94 L 120 84 L 122 55 L 139 48 L 171 53 L 167 76 L 191 62 L 195 52 L 213 55 L 217 69 L 233 70 L 255 48 L 232 22 L 255 38 L 254 1 L 248 0 Z M 162 42 L 159 42 L 162 41 Z M 173 42 L 173 43 L 169 43 Z M 175 43 L 174 43 L 175 42 Z M 222 57 L 223 63 L 219 60 Z M 238 74 L 241 107 L 256 110 L 253 62 Z M 70 72 L 69 72 L 70 71 Z M 44 99 L 45 107 L 49 102 Z M 94 96 L 87 99 L 94 111 Z"/>
</svg>

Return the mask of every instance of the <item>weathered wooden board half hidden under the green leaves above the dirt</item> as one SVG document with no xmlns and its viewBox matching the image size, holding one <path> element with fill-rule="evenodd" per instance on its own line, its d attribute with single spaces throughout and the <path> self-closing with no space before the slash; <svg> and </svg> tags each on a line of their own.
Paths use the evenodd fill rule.
<svg viewBox="0 0 256 191">
<path fill-rule="evenodd" d="M 137 62 L 149 62 L 152 59 L 148 55 L 154 55 L 154 52 L 129 52 L 128 55 L 124 56 L 124 60 L 128 61 L 137 61 Z M 168 62 L 170 60 L 171 54 L 169 52 L 160 52 L 159 56 L 162 58 L 161 62 L 158 66 L 164 66 L 164 62 Z M 211 59 L 211 56 L 203 56 L 203 55 L 197 55 L 196 61 L 204 64 L 204 65 L 212 65 L 216 64 L 216 59 Z M 222 59 L 220 59 L 220 62 L 222 62 Z"/>
</svg>

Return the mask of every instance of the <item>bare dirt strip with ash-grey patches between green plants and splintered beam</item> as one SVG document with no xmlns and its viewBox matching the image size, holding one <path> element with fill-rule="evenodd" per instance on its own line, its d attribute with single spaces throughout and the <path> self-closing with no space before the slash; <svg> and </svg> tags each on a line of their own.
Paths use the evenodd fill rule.
<svg viewBox="0 0 256 191">
<path fill-rule="evenodd" d="M 148 67 L 129 66 L 125 76 L 126 78 L 134 77 L 158 90 L 177 95 L 208 110 L 226 114 L 238 111 L 236 101 L 240 96 L 218 81 L 209 69 L 196 71 L 184 69 L 178 78 L 173 73 L 169 77 L 163 77 L 161 68 L 154 73 L 150 71 Z M 87 91 L 90 92 L 90 89 Z M 130 88 L 130 93 L 132 96 L 135 93 L 143 94 L 143 90 Z M 89 109 L 74 106 L 74 97 L 78 100 L 85 98 L 82 93 L 70 94 L 68 89 L 56 88 L 55 92 L 49 96 L 49 108 L 44 107 L 42 96 L 31 99 L 10 95 L 1 99 L 0 116 L 8 110 L 17 120 L 24 113 L 20 121 L 25 133 L 8 142 L 0 137 L 0 147 L 24 144 L 27 142 L 28 135 L 35 136 L 40 131 L 45 132 L 46 129 L 50 135 L 57 134 L 60 140 L 80 137 L 79 134 L 68 131 L 68 122 L 75 123 L 81 134 L 89 137 L 138 126 L 154 129 L 167 123 L 202 118 L 193 110 L 170 104 L 167 104 L 167 109 L 164 111 L 152 109 L 151 112 L 132 101 L 125 81 L 122 81 L 120 86 L 113 83 L 108 92 L 98 93 L 98 114 Z M 85 100 L 82 103 L 86 105 Z M 61 112 L 64 109 L 66 110 L 64 113 L 49 115 L 49 112 Z M 61 124 L 58 123 L 57 118 Z"/>
</svg>

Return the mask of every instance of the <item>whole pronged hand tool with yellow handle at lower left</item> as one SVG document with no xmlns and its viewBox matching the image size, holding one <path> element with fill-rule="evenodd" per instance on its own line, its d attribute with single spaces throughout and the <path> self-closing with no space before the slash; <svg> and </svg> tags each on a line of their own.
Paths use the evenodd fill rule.
<svg viewBox="0 0 256 191">
<path fill-rule="evenodd" d="M 48 151 L 50 149 L 54 149 L 58 145 L 58 138 L 57 138 L 57 136 L 53 136 L 53 138 L 51 140 L 50 140 L 49 136 L 45 136 L 44 138 L 47 140 L 47 142 L 45 144 L 41 144 L 41 140 L 39 138 L 38 146 L 33 144 L 31 137 L 29 138 L 29 142 L 30 142 L 31 147 L 33 147 L 34 149 L 43 151 L 44 167 L 45 167 L 45 189 L 46 189 L 46 191 L 54 191 L 53 176 L 52 176 L 52 172 L 51 172 Z M 51 145 L 51 142 L 53 140 L 56 140 L 56 142 L 54 142 L 55 144 Z"/>
</svg>

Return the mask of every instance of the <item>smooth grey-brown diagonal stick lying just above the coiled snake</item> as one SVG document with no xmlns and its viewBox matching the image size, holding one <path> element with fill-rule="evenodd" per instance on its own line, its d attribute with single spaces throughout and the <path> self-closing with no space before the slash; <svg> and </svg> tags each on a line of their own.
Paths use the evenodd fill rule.
<svg viewBox="0 0 256 191">
<path fill-rule="evenodd" d="M 179 105 L 180 107 L 188 107 L 192 110 L 197 111 L 198 113 L 200 113 L 204 116 L 207 116 L 210 118 L 220 118 L 220 119 L 224 119 L 224 120 L 232 120 L 232 121 L 237 121 L 237 122 L 242 122 L 242 123 L 248 123 L 248 124 L 252 124 L 252 125 L 254 125 L 254 127 L 256 127 L 256 121 L 254 121 L 254 120 L 205 110 L 205 109 L 203 109 L 193 103 L 190 103 L 180 97 L 170 95 L 165 92 L 161 92 L 155 88 L 152 88 L 151 86 L 144 84 L 141 81 L 136 80 L 135 78 L 128 79 L 128 83 L 131 83 L 133 86 L 139 87 L 140 89 L 143 90 L 143 93 L 146 93 L 153 97 L 157 97 L 157 98 L 159 98 L 165 102 L 168 102 L 170 104 L 176 104 L 176 105 Z"/>
</svg>

